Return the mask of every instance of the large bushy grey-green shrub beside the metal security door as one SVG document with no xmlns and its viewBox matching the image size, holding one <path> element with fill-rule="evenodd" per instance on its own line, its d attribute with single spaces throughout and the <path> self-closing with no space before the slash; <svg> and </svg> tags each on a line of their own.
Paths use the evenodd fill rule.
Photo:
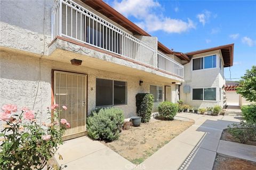
<svg viewBox="0 0 256 170">
<path fill-rule="evenodd" d="M 102 108 L 87 118 L 87 132 L 90 138 L 111 142 L 119 138 L 124 123 L 124 112 L 119 108 Z"/>
</svg>

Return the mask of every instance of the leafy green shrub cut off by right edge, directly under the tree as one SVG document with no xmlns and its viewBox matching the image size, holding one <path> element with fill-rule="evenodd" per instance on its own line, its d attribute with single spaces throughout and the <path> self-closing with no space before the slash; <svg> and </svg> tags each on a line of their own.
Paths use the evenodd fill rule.
<svg viewBox="0 0 256 170">
<path fill-rule="evenodd" d="M 245 121 L 256 123 L 256 104 L 242 106 L 241 110 Z"/>
</svg>

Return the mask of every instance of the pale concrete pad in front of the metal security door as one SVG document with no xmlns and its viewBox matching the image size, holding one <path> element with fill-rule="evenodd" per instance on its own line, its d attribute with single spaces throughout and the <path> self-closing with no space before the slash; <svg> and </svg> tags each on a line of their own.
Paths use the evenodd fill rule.
<svg viewBox="0 0 256 170">
<path fill-rule="evenodd" d="M 60 153 L 63 160 L 59 160 Z M 132 169 L 135 167 L 129 160 L 118 155 L 99 141 L 80 137 L 65 141 L 60 146 L 55 160 L 62 169 Z"/>
</svg>

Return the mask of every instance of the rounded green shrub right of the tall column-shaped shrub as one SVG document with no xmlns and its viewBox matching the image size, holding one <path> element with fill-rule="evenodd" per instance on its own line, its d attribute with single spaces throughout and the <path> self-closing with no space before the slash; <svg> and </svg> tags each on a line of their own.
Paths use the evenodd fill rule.
<svg viewBox="0 0 256 170">
<path fill-rule="evenodd" d="M 170 101 L 164 101 L 158 106 L 159 115 L 166 120 L 173 120 L 178 111 L 179 105 L 171 103 Z"/>
</svg>

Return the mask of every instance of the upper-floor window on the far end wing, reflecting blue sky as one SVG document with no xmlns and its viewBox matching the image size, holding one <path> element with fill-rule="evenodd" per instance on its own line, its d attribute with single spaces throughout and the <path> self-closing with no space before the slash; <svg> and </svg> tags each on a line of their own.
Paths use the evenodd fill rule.
<svg viewBox="0 0 256 170">
<path fill-rule="evenodd" d="M 193 70 L 202 70 L 202 69 L 210 69 L 216 68 L 217 64 L 216 55 L 194 58 L 193 59 Z"/>
</svg>

